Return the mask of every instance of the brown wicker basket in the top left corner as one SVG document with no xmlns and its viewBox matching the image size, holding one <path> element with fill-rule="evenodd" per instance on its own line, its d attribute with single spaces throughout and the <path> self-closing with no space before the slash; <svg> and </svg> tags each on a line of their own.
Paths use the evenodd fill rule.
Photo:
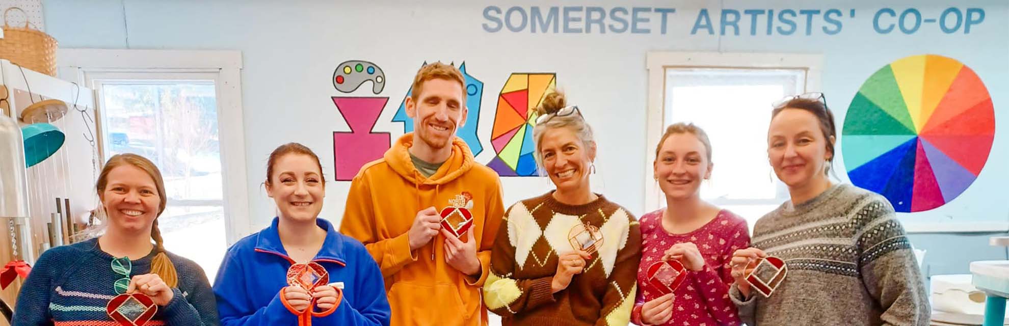
<svg viewBox="0 0 1009 326">
<path fill-rule="evenodd" d="M 7 13 L 3 12 L 3 38 L 0 38 L 0 59 L 9 60 L 15 65 L 45 74 L 57 76 L 57 40 L 48 34 L 28 27 L 28 19 L 24 27 L 11 27 L 7 24 Z M 21 10 L 24 12 L 24 10 Z M 27 15 L 27 14 L 25 14 Z"/>
</svg>

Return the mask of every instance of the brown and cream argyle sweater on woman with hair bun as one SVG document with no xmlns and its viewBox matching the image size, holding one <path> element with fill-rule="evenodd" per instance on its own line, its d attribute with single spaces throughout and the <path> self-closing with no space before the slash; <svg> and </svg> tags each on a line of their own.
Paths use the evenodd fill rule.
<svg viewBox="0 0 1009 326">
<path fill-rule="evenodd" d="M 641 230 L 626 209 L 601 195 L 566 205 L 553 192 L 516 203 L 504 214 L 490 257 L 483 300 L 503 325 L 628 325 L 641 260 Z M 587 223 L 602 244 L 567 289 L 550 289 L 559 254 L 574 251 L 569 231 Z"/>
</svg>

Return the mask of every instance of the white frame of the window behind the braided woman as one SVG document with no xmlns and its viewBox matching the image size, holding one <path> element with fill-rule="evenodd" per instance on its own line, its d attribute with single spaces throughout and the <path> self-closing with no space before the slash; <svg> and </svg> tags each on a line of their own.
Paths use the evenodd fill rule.
<svg viewBox="0 0 1009 326">
<path fill-rule="evenodd" d="M 61 48 L 60 76 L 82 86 L 95 79 L 143 74 L 214 80 L 217 96 L 218 137 L 221 152 L 221 179 L 224 200 L 224 223 L 227 243 L 251 233 L 249 221 L 248 180 L 245 166 L 245 131 L 241 101 L 242 56 L 237 50 L 166 50 Z M 97 95 L 96 95 L 97 99 Z M 96 124 L 103 134 L 101 103 L 96 101 Z M 98 139 L 103 146 L 102 139 Z M 104 148 L 99 148 L 102 161 Z"/>
</svg>

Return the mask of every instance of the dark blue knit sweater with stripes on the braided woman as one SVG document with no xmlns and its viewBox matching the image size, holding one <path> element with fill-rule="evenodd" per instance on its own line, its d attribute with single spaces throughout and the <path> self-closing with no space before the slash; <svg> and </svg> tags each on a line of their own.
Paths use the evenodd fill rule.
<svg viewBox="0 0 1009 326">
<path fill-rule="evenodd" d="M 133 260 L 130 277 L 150 273 L 154 253 Z M 179 273 L 179 288 L 148 325 L 219 325 L 203 269 L 193 260 L 167 255 Z M 110 267 L 112 259 L 98 247 L 98 238 L 45 250 L 18 295 L 13 326 L 114 325 L 105 306 L 116 296 L 112 285 L 122 276 Z"/>
</svg>

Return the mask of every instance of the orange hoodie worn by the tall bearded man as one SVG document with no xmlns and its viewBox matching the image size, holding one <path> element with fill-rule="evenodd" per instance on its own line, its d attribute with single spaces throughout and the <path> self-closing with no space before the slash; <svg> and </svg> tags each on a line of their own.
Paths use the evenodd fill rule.
<svg viewBox="0 0 1009 326">
<path fill-rule="evenodd" d="M 340 233 L 363 242 L 378 262 L 393 308 L 391 325 L 486 325 L 480 287 L 489 274 L 490 249 L 504 215 L 500 180 L 489 168 L 474 162 L 458 137 L 452 140 L 448 160 L 425 178 L 410 159 L 413 139 L 413 133 L 404 134 L 381 159 L 365 165 L 354 177 Z M 445 261 L 445 239 L 440 234 L 433 244 L 410 250 L 407 231 L 417 212 L 431 206 L 439 212 L 468 207 L 479 280 Z"/>
</svg>

